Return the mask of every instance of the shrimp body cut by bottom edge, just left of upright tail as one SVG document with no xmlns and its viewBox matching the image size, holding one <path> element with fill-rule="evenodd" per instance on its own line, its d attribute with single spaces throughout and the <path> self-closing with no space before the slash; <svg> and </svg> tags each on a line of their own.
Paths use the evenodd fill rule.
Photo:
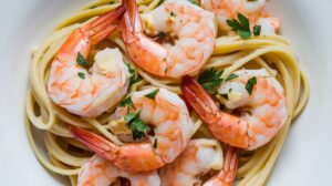
<svg viewBox="0 0 332 186">
<path fill-rule="evenodd" d="M 215 140 L 191 140 L 186 149 L 159 169 L 163 186 L 201 185 L 200 176 L 222 167 L 222 151 Z"/>
</svg>

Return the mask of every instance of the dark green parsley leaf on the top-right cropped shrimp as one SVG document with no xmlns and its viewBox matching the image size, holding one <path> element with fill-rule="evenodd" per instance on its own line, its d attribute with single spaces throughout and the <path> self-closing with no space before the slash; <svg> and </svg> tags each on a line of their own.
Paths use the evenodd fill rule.
<svg viewBox="0 0 332 186">
<path fill-rule="evenodd" d="M 238 20 L 226 20 L 227 24 L 236 31 L 242 39 L 247 40 L 251 37 L 249 20 L 243 14 L 238 12 Z M 256 25 L 253 28 L 253 34 L 259 35 L 260 33 L 260 25 Z"/>
</svg>

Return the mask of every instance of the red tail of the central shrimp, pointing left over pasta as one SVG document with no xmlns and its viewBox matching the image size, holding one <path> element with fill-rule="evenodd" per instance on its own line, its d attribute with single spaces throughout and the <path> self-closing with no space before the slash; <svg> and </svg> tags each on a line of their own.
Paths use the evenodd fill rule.
<svg viewBox="0 0 332 186">
<path fill-rule="evenodd" d="M 71 125 L 69 130 L 74 137 L 76 137 L 82 144 L 84 144 L 91 151 L 95 152 L 96 154 L 98 154 L 105 159 L 108 161 L 115 159 L 115 154 L 118 149 L 117 146 L 115 146 L 113 143 L 106 141 L 105 138 L 92 132 L 82 130 L 73 125 Z"/>
</svg>

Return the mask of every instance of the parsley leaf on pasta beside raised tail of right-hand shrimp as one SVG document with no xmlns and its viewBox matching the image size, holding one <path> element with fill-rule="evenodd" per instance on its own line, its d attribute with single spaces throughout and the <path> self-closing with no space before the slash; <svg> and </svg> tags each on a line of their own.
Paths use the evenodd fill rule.
<svg viewBox="0 0 332 186">
<path fill-rule="evenodd" d="M 207 71 L 204 71 L 199 78 L 198 83 L 208 92 L 214 92 L 215 89 L 221 84 L 222 79 L 220 76 L 222 75 L 224 70 L 218 72 L 217 70 L 209 69 Z"/>
</svg>

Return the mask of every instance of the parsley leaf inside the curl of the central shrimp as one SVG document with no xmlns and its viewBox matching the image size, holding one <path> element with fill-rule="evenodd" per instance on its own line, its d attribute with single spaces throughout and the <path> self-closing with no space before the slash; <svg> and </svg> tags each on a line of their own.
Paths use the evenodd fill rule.
<svg viewBox="0 0 332 186">
<path fill-rule="evenodd" d="M 146 132 L 151 130 L 149 126 L 144 124 L 144 122 L 139 118 L 139 113 L 141 111 L 128 113 L 124 118 L 132 128 L 134 140 L 144 137 Z"/>
</svg>

